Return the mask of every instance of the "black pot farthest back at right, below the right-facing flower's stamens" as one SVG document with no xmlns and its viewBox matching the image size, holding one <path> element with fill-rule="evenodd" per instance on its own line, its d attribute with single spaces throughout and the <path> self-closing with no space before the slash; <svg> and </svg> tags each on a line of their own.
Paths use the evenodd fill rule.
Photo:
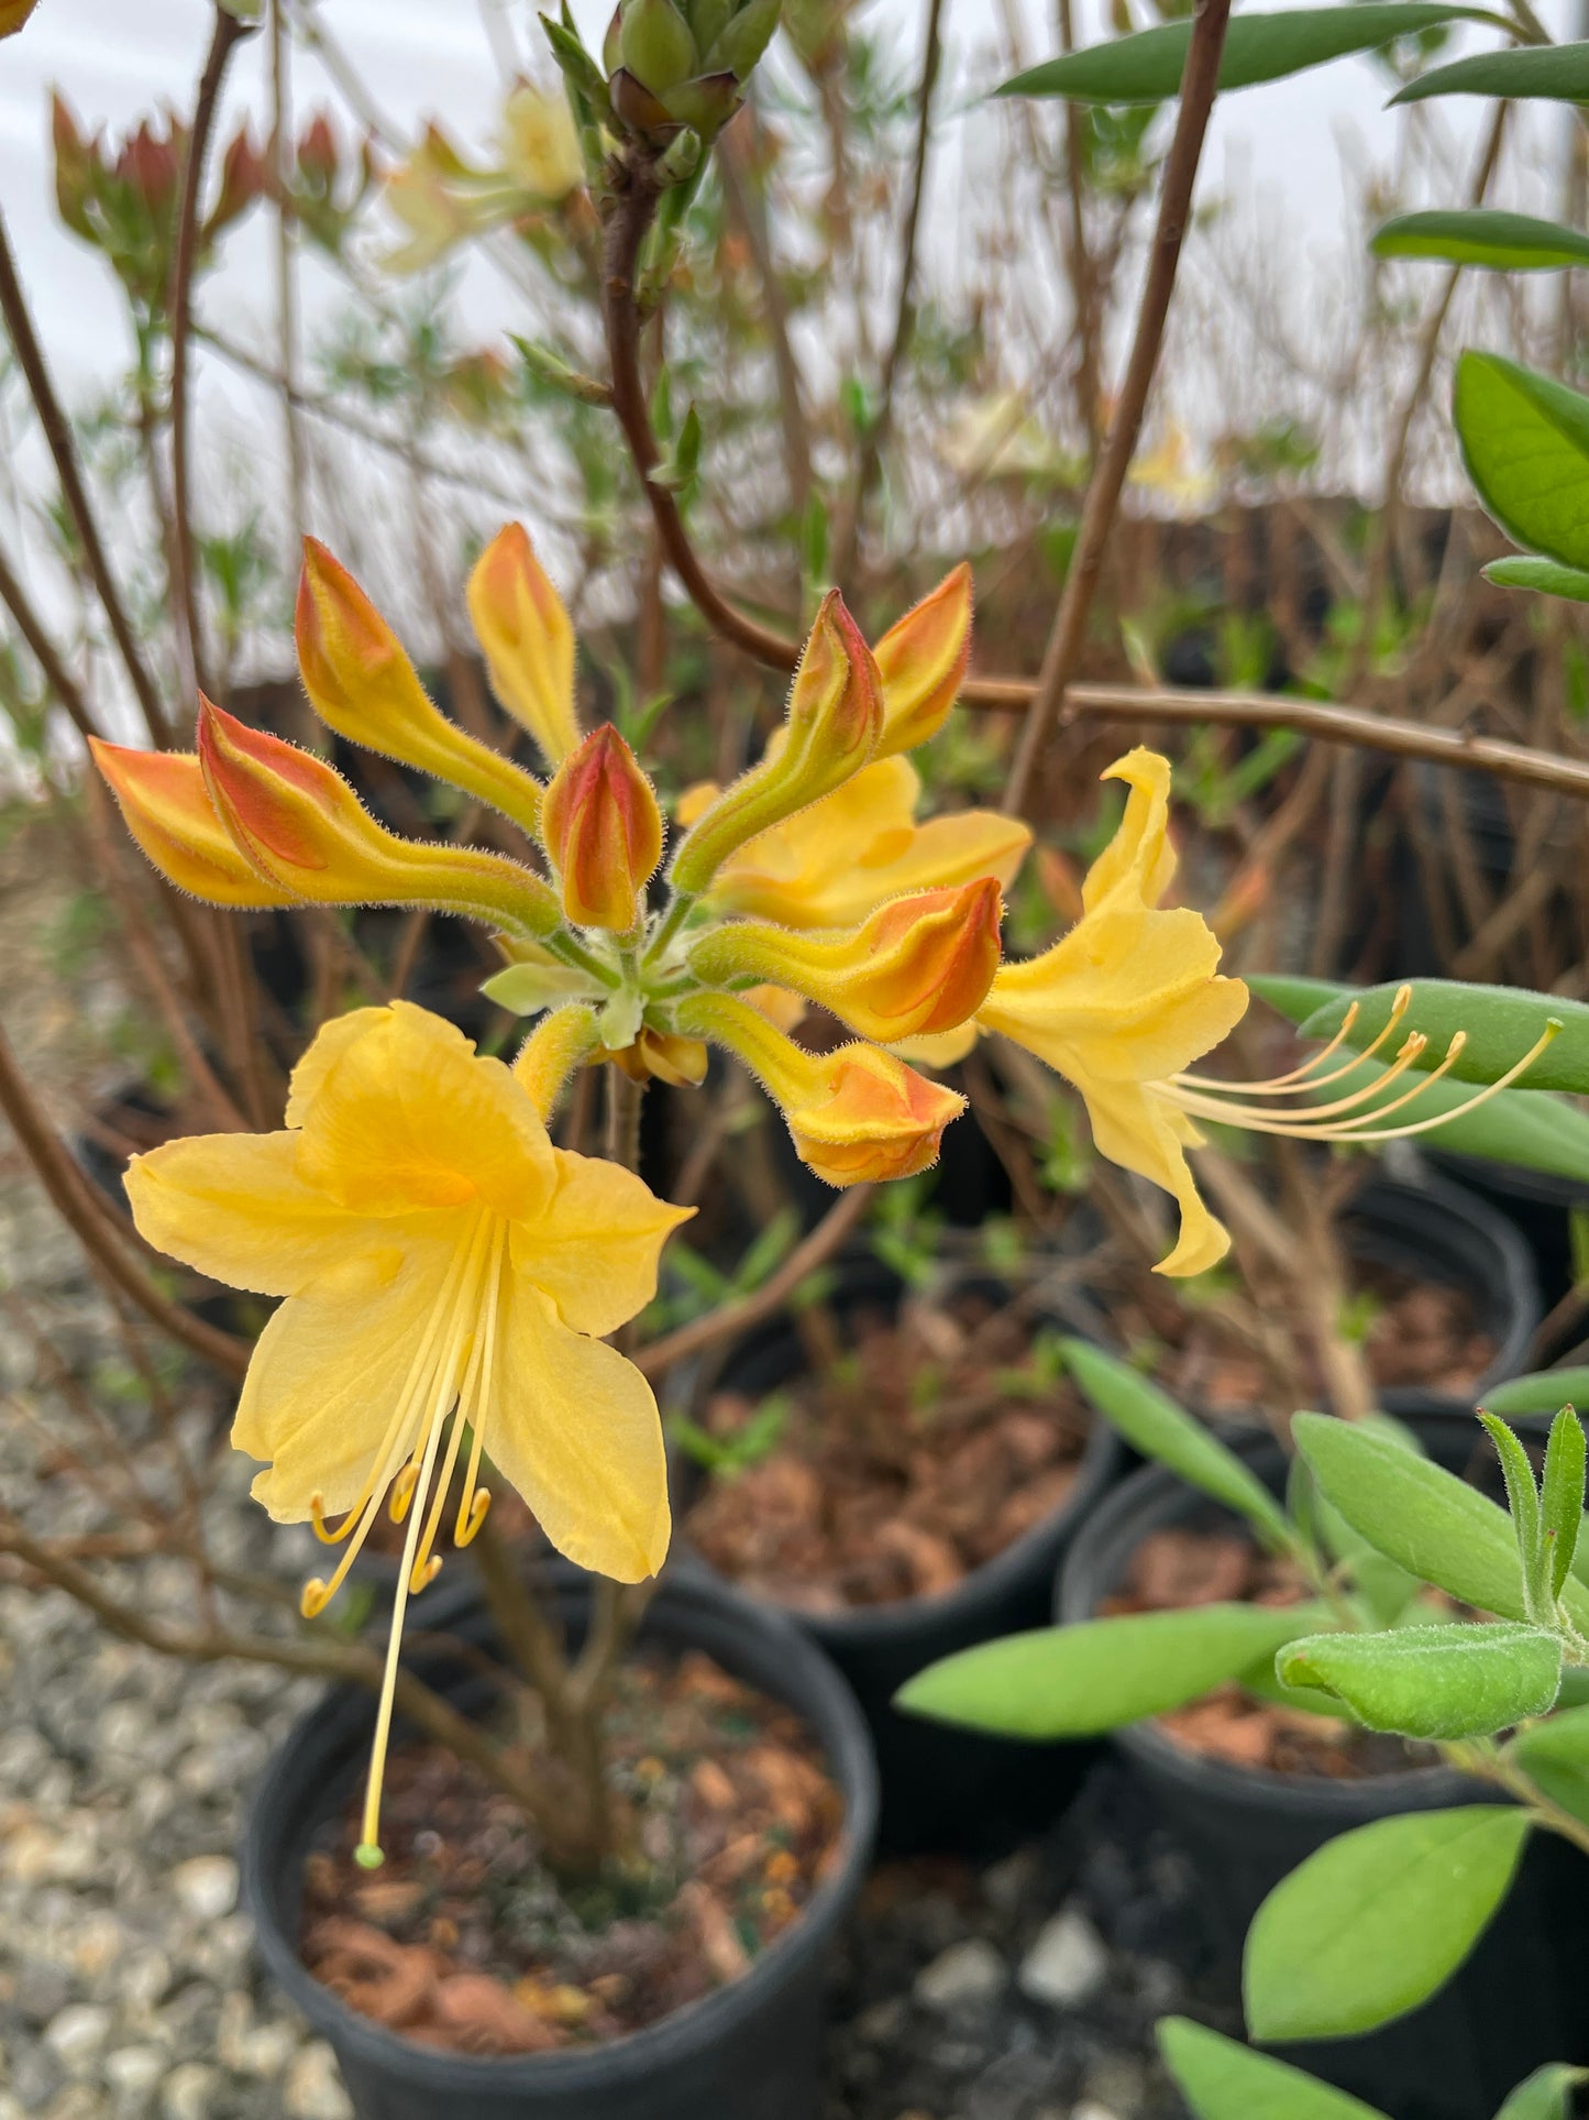
<svg viewBox="0 0 1589 2120">
<path fill-rule="evenodd" d="M 1468 1295 L 1475 1325 L 1496 1342 L 1489 1367 L 1475 1380 L 1475 1399 L 1525 1365 L 1540 1323 L 1534 1257 L 1519 1230 L 1487 1200 L 1424 1166 L 1415 1166 L 1411 1177 L 1375 1172 L 1343 1211 L 1341 1236 L 1354 1259 L 1392 1266 Z M 1394 1414 L 1434 1414 L 1464 1410 L 1468 1399 L 1394 1386 L 1381 1393 L 1381 1403 Z"/>
</svg>

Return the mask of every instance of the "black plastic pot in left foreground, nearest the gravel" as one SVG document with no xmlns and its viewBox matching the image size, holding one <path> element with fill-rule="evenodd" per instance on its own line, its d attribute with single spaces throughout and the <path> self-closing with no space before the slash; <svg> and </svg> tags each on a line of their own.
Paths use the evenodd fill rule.
<svg viewBox="0 0 1589 2120">
<path fill-rule="evenodd" d="M 561 1569 L 555 1579 L 578 1637 L 585 1582 Z M 447 1624 L 464 1641 L 492 1639 L 481 1607 L 453 1607 Z M 860 1893 L 877 1821 L 867 1726 L 814 1643 L 714 1584 L 669 1577 L 642 1639 L 703 1649 L 805 1717 L 845 1800 L 839 1859 L 801 1921 L 742 1980 L 659 2025 L 591 2052 L 506 2061 L 413 2046 L 345 2010 L 297 1950 L 303 1859 L 322 1821 L 347 1802 L 371 1743 L 373 1702 L 333 1694 L 299 1724 L 254 1794 L 244 1893 L 265 1963 L 335 2048 L 358 2120 L 816 2120 L 824 1957 Z M 432 1660 L 419 1668 L 458 1707 L 483 1704 L 481 1681 L 460 1666 Z"/>
</svg>

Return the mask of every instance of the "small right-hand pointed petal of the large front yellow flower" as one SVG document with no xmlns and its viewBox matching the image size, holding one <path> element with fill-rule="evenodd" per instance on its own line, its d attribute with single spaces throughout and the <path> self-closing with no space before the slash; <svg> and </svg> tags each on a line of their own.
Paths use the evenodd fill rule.
<svg viewBox="0 0 1589 2120">
<path fill-rule="evenodd" d="M 669 1206 L 631 1170 L 553 1149 L 557 1189 L 511 1227 L 515 1272 L 534 1280 L 564 1325 L 608 1333 L 657 1293 L 657 1257 L 693 1206 Z"/>
</svg>

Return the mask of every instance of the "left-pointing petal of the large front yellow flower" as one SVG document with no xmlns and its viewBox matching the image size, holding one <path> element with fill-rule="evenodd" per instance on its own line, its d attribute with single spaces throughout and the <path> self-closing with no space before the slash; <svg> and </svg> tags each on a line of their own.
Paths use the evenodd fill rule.
<svg viewBox="0 0 1589 2120">
<path fill-rule="evenodd" d="M 297 1134 L 189 1134 L 127 1166 L 157 1251 L 235 1289 L 294 1295 L 367 1242 L 367 1221 L 299 1170 Z"/>
</svg>

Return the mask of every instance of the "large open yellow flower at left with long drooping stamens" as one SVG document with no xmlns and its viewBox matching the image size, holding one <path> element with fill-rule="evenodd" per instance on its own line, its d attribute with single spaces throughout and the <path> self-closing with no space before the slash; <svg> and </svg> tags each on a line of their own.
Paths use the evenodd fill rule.
<svg viewBox="0 0 1589 2120">
<path fill-rule="evenodd" d="M 398 1001 L 326 1024 L 280 1132 L 172 1141 L 127 1170 L 150 1244 L 286 1297 L 248 1365 L 233 1444 L 265 1463 L 254 1497 L 278 1522 L 345 1541 L 305 1611 L 341 1586 L 388 1495 L 409 1518 L 369 1849 L 405 1601 L 441 1567 L 432 1545 L 466 1437 L 456 1543 L 485 1514 L 489 1452 L 581 1567 L 640 1582 L 667 1552 L 657 1401 L 600 1336 L 653 1297 L 661 1244 L 693 1211 L 555 1149 L 532 1088 Z"/>
</svg>

